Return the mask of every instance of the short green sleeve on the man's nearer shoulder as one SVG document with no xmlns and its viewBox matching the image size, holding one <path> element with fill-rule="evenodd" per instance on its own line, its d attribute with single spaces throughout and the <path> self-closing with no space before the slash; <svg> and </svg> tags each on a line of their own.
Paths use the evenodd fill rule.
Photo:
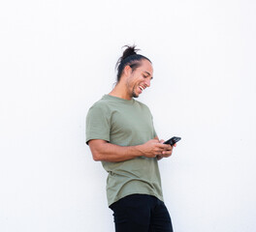
<svg viewBox="0 0 256 232">
<path fill-rule="evenodd" d="M 86 144 L 91 139 L 110 141 L 110 131 L 108 110 L 103 105 L 93 105 L 86 116 Z"/>
</svg>

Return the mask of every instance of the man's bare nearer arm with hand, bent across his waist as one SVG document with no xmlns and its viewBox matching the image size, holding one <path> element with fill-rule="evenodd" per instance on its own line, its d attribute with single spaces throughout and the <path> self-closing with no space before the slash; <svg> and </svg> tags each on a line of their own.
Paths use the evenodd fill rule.
<svg viewBox="0 0 256 232">
<path fill-rule="evenodd" d="M 158 139 L 151 139 L 142 145 L 122 147 L 102 139 L 92 139 L 88 142 L 93 160 L 124 161 L 137 157 L 155 158 L 167 153 L 171 156 L 172 146 L 163 144 Z M 171 154 L 170 154 L 171 153 Z"/>
</svg>

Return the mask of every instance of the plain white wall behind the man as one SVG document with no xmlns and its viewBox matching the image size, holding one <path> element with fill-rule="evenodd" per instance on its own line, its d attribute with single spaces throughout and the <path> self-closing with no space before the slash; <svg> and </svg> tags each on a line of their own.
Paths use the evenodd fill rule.
<svg viewBox="0 0 256 232">
<path fill-rule="evenodd" d="M 256 4 L 2 1 L 0 231 L 113 231 L 107 174 L 85 140 L 121 46 L 154 65 L 150 107 L 176 232 L 256 230 Z"/>
</svg>

